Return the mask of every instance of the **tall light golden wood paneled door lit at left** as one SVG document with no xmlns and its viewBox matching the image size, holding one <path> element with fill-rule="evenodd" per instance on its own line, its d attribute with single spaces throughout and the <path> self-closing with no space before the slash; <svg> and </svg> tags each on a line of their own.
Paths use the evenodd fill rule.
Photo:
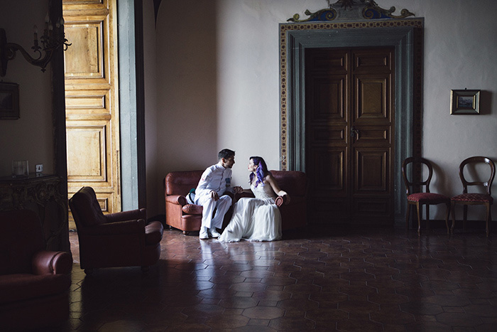
<svg viewBox="0 0 497 332">
<path fill-rule="evenodd" d="M 115 0 L 63 0 L 67 193 L 92 186 L 104 213 L 121 210 Z M 72 220 L 72 215 L 70 215 Z M 73 225 L 70 225 L 70 227 Z"/>
</svg>

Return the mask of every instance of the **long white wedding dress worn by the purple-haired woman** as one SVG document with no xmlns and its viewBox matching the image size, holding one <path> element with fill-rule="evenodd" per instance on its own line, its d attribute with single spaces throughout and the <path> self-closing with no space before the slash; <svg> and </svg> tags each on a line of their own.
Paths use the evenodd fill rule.
<svg viewBox="0 0 497 332">
<path fill-rule="evenodd" d="M 268 183 L 251 185 L 256 198 L 240 198 L 233 207 L 233 216 L 219 237 L 221 242 L 273 241 L 281 238 L 281 215 L 274 203 L 276 194 Z"/>
</svg>

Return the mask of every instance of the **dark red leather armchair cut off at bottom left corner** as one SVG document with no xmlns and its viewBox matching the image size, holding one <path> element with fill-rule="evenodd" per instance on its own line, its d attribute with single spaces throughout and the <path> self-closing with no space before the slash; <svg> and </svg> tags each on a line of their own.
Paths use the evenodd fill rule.
<svg viewBox="0 0 497 332">
<path fill-rule="evenodd" d="M 0 330 L 59 326 L 69 317 L 72 257 L 45 250 L 38 215 L 0 212 Z"/>
</svg>

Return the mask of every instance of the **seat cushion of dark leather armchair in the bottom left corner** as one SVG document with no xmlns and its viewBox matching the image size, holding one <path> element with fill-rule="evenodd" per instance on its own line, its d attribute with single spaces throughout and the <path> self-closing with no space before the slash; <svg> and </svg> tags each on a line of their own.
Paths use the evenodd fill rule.
<svg viewBox="0 0 497 332">
<path fill-rule="evenodd" d="M 0 276 L 0 304 L 67 291 L 70 274 L 6 274 Z"/>
</svg>

